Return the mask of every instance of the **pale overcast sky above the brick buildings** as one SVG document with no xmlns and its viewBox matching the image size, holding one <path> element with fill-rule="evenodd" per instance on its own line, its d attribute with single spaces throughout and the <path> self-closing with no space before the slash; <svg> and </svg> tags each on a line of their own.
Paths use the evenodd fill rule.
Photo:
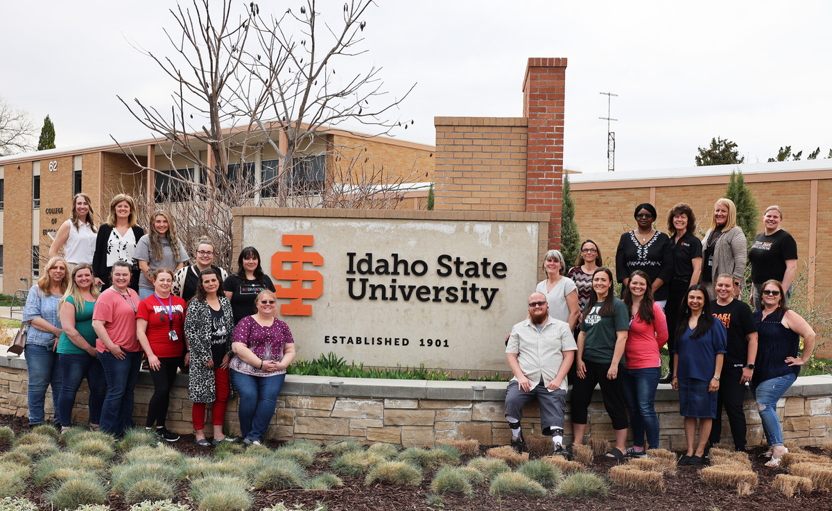
<svg viewBox="0 0 832 511">
<path fill-rule="evenodd" d="M 131 44 L 167 52 L 171 5 L 0 0 L 0 96 L 38 127 L 49 114 L 58 147 L 149 136 L 116 94 L 170 106 L 173 83 Z M 338 16 L 342 5 L 319 10 Z M 367 22 L 369 60 L 356 65 L 384 67 L 394 95 L 417 83 L 401 107 L 415 121 L 396 133 L 405 140 L 433 145 L 434 116 L 521 117 L 527 58 L 567 57 L 568 167 L 607 169 L 599 92 L 618 94 L 620 171 L 693 166 L 714 136 L 748 162 L 783 145 L 804 158 L 832 147 L 832 2 L 379 0 Z"/>
</svg>

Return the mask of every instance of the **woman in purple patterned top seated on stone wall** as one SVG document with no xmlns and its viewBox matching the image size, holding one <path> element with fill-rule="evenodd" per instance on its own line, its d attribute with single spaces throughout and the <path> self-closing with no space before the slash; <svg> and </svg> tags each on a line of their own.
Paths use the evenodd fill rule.
<svg viewBox="0 0 832 511">
<path fill-rule="evenodd" d="M 260 445 L 277 395 L 283 388 L 286 368 L 295 360 L 295 340 L 289 325 L 273 315 L 275 293 L 262 290 L 255 299 L 257 314 L 245 316 L 234 329 L 231 350 L 231 382 L 240 394 L 237 414 L 246 445 Z"/>
</svg>

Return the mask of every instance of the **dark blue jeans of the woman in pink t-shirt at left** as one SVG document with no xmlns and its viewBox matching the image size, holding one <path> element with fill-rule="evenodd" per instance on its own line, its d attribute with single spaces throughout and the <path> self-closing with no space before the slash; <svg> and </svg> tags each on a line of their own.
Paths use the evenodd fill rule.
<svg viewBox="0 0 832 511">
<path fill-rule="evenodd" d="M 107 385 L 101 429 L 115 435 L 133 427 L 133 389 L 141 370 L 141 351 L 121 351 L 126 355 L 124 360 L 116 359 L 109 351 L 98 354 Z"/>
</svg>

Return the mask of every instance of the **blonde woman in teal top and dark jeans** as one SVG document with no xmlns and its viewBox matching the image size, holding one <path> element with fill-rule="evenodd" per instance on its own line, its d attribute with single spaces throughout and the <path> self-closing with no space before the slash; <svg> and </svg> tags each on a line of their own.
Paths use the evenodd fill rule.
<svg viewBox="0 0 832 511">
<path fill-rule="evenodd" d="M 82 263 L 72 270 L 69 289 L 63 295 L 58 311 L 63 334 L 58 340 L 57 354 L 61 365 L 63 386 L 58 396 L 62 432 L 72 426 L 72 408 L 82 380 L 90 387 L 90 426 L 98 429 L 102 403 L 106 395 L 104 368 L 96 352 L 96 332 L 92 330 L 92 310 L 98 298 L 92 265 Z"/>
</svg>

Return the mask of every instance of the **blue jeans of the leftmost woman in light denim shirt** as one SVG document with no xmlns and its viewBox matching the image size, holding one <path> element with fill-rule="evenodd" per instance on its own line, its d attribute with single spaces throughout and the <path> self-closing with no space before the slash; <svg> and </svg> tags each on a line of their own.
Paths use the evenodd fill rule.
<svg viewBox="0 0 832 511">
<path fill-rule="evenodd" d="M 41 345 L 26 345 L 23 350 L 26 357 L 26 371 L 29 375 L 27 399 L 29 401 L 29 424 L 43 424 L 45 419 L 43 405 L 47 400 L 47 388 L 52 385 L 52 409 L 55 411 L 55 424 L 61 424 L 61 412 L 58 411 L 57 397 L 61 394 L 61 365 L 57 362 L 57 353 Z"/>
</svg>

